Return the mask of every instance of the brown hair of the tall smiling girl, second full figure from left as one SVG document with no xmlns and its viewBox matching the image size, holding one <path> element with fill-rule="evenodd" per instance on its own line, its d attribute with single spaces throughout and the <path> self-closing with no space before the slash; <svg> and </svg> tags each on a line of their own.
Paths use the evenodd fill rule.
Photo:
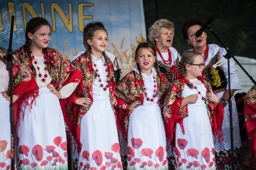
<svg viewBox="0 0 256 170">
<path fill-rule="evenodd" d="M 87 24 L 85 26 L 84 32 L 83 32 L 84 47 L 86 48 L 86 51 L 88 53 L 88 60 L 89 60 L 89 62 L 92 65 L 93 65 L 93 63 L 92 63 L 92 56 L 91 56 L 91 54 L 92 54 L 92 47 L 87 42 L 87 40 L 92 40 L 92 38 L 94 37 L 96 31 L 98 31 L 98 30 L 105 31 L 107 33 L 107 35 L 108 35 L 108 31 L 105 29 L 105 27 L 104 27 L 102 22 L 90 22 L 89 24 Z M 107 59 L 107 55 L 106 55 L 106 53 L 104 51 L 102 52 L 102 55 L 103 55 L 107 65 L 109 65 L 109 62 L 111 62 L 111 61 L 109 61 Z M 108 75 L 109 75 L 109 77 L 108 77 L 108 80 L 109 80 L 112 77 L 112 71 L 110 69 L 108 71 Z M 97 73 L 96 73 L 95 70 L 93 70 L 93 76 L 94 76 L 94 78 L 96 78 L 96 76 L 97 76 Z"/>
</svg>

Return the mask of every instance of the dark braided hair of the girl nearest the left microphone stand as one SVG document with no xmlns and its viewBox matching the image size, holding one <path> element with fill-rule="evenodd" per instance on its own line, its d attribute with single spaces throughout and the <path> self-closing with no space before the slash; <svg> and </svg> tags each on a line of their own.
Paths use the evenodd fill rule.
<svg viewBox="0 0 256 170">
<path fill-rule="evenodd" d="M 32 56 L 31 56 L 32 53 L 30 50 L 30 45 L 31 45 L 32 40 L 28 37 L 28 33 L 34 34 L 42 26 L 48 26 L 50 28 L 50 31 L 52 32 L 52 28 L 51 28 L 50 24 L 48 23 L 48 21 L 41 17 L 32 18 L 31 20 L 28 21 L 28 24 L 26 26 L 26 32 L 25 32 L 26 42 L 23 45 L 23 47 L 24 47 L 24 51 L 26 52 L 26 54 L 28 55 L 28 57 L 30 59 L 32 58 Z M 44 53 L 47 54 L 48 51 L 46 49 L 44 49 Z M 46 67 L 47 67 L 49 74 L 51 75 L 51 67 L 52 67 L 51 63 L 50 62 L 46 63 Z M 32 69 L 33 76 L 36 77 L 36 69 L 34 68 L 33 65 L 31 67 L 31 69 Z"/>
</svg>

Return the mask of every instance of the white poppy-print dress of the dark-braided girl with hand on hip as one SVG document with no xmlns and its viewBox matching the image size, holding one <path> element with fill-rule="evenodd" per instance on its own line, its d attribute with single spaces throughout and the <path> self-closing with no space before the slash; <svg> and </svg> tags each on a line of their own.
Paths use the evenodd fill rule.
<svg viewBox="0 0 256 170">
<path fill-rule="evenodd" d="M 43 57 L 34 57 L 40 67 L 42 78 L 45 74 Z M 33 61 L 33 66 L 37 65 Z M 59 99 L 46 87 L 52 79 L 48 71 L 46 81 L 38 76 L 36 69 L 36 83 L 39 96 L 32 108 L 22 107 L 20 120 L 17 123 L 18 168 L 68 169 L 67 142 L 65 123 Z M 69 83 L 60 89 L 62 99 L 67 98 L 74 91 L 78 83 Z M 31 100 L 31 99 L 30 99 Z"/>
</svg>

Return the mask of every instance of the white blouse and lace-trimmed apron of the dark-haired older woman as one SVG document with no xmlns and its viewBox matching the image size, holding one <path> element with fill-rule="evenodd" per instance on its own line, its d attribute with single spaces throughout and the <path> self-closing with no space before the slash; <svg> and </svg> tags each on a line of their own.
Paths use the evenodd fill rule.
<svg viewBox="0 0 256 170">
<path fill-rule="evenodd" d="M 216 55 L 216 53 L 220 49 L 220 59 L 223 59 L 224 63 L 222 64 L 223 71 L 226 77 L 227 86 L 226 89 L 228 89 L 228 60 L 223 57 L 227 52 L 224 48 L 220 48 L 216 44 L 209 44 L 209 53 L 208 58 L 205 61 L 206 65 L 210 62 L 210 59 Z M 234 59 L 230 59 L 230 88 L 235 90 L 241 90 L 241 83 L 238 79 L 238 73 L 236 70 L 236 65 L 234 62 Z M 222 91 L 220 93 L 216 93 L 219 100 L 221 100 L 222 95 L 225 91 Z M 234 148 L 240 148 L 241 147 L 241 138 L 240 138 L 240 129 L 239 129 L 239 120 L 238 120 L 238 113 L 236 109 L 236 101 L 234 95 L 231 97 L 232 101 L 232 121 L 233 121 L 233 139 L 234 139 Z M 223 136 L 224 141 L 221 140 L 221 142 L 215 142 L 215 151 L 220 152 L 225 150 L 231 149 L 231 139 L 230 139 L 230 119 L 229 119 L 229 109 L 228 104 L 224 107 L 224 119 L 222 123 L 222 130 L 223 130 Z"/>
</svg>

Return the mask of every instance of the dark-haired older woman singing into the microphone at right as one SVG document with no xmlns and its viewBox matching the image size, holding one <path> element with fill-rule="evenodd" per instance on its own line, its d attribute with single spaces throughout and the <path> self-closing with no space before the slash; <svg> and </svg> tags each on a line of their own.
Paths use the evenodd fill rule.
<svg viewBox="0 0 256 170">
<path fill-rule="evenodd" d="M 220 103 L 224 107 L 224 120 L 222 124 L 224 140 L 221 142 L 215 142 L 216 152 L 216 168 L 228 169 L 230 168 L 231 161 L 225 161 L 227 156 L 231 156 L 231 142 L 230 142 L 230 119 L 228 109 L 228 60 L 223 56 L 227 53 L 224 48 L 219 47 L 216 44 L 206 43 L 206 31 L 202 33 L 200 37 L 196 37 L 196 31 L 201 28 L 203 23 L 199 20 L 188 20 L 185 22 L 182 28 L 182 34 L 184 39 L 190 44 L 194 51 L 199 52 L 204 57 L 204 70 L 202 76 L 212 81 L 211 86 L 213 92 L 218 96 Z M 234 92 L 240 90 L 241 84 L 238 79 L 238 73 L 234 63 L 234 59 L 230 59 L 230 87 L 231 87 L 231 100 L 232 100 L 232 119 L 233 119 L 233 139 L 234 139 L 234 156 L 237 160 L 237 154 L 241 147 L 239 120 L 236 109 L 236 101 L 234 98 Z M 228 163 L 227 163 L 228 162 Z M 238 167 L 237 161 L 235 164 Z"/>
</svg>

